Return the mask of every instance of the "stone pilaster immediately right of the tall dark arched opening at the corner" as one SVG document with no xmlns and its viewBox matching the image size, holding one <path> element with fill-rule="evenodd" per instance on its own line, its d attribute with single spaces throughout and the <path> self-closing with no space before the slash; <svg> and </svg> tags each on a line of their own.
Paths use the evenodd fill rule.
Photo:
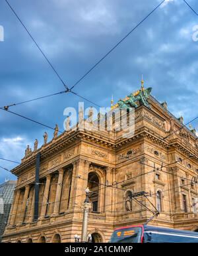
<svg viewBox="0 0 198 256">
<path fill-rule="evenodd" d="M 112 168 L 106 168 L 106 185 L 112 185 Z M 107 182 L 108 181 L 108 182 Z M 112 209 L 112 187 L 106 186 L 105 188 L 105 211 L 111 211 Z"/>
</svg>

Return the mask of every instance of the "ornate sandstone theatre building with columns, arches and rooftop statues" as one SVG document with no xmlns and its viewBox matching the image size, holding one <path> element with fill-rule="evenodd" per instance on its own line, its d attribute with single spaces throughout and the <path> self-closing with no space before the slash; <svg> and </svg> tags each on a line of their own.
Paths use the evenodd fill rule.
<svg viewBox="0 0 198 256">
<path fill-rule="evenodd" d="M 79 123 L 60 135 L 55 129 L 51 141 L 44 137 L 42 147 L 26 149 L 21 164 L 12 170 L 17 184 L 3 242 L 75 241 L 75 234 L 81 236 L 87 187 L 87 234 L 93 242 L 108 242 L 115 228 L 145 224 L 152 216 L 149 225 L 198 229 L 193 208 L 198 197 L 195 129 L 185 127 L 182 117 L 172 115 L 166 101 L 157 101 L 143 83 L 112 104 L 111 111 L 125 106 L 135 107 L 131 137 L 116 129 L 120 119 L 114 115 L 112 131 L 107 119 L 103 129 L 86 129 L 86 119 L 84 129 Z M 128 112 L 123 118 L 130 123 L 132 117 Z M 89 121 L 98 126 L 91 117 Z"/>
</svg>

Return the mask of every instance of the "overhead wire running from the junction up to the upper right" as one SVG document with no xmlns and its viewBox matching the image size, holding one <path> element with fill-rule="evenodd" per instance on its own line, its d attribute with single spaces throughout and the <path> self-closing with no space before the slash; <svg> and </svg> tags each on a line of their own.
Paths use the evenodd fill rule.
<svg viewBox="0 0 198 256">
<path fill-rule="evenodd" d="M 98 66 L 98 64 L 100 64 L 100 62 L 102 62 L 102 60 L 104 60 L 104 58 L 106 58 L 115 48 L 117 48 L 117 46 L 119 46 L 119 44 L 121 44 L 121 42 L 123 42 L 123 40 L 125 40 L 125 38 L 127 38 L 127 36 L 129 36 L 131 34 L 131 32 L 135 31 L 135 29 L 137 29 L 137 27 L 139 27 L 139 25 L 141 25 L 141 23 L 143 23 L 143 21 L 145 21 L 152 13 L 154 13 L 154 11 L 156 9 L 158 9 L 158 7 L 160 7 L 160 5 L 162 5 L 162 3 L 164 3 L 165 0 L 163 0 L 157 7 L 155 7 L 150 13 L 149 15 L 147 15 L 141 22 L 139 22 L 131 31 L 128 32 L 128 34 L 126 34 L 121 40 L 119 40 L 119 42 L 117 42 L 117 44 L 111 48 L 102 58 L 100 58 L 100 60 L 98 60 L 98 62 L 96 62 L 96 64 L 94 64 L 94 66 L 92 66 L 92 68 L 90 68 L 90 70 L 88 70 L 88 72 L 86 72 L 84 74 L 84 76 L 82 76 L 77 82 L 75 82 L 75 84 L 73 84 L 73 86 L 69 89 L 69 91 L 71 91 L 77 84 L 79 84 L 79 82 L 81 82 L 81 80 L 87 76 L 94 68 L 96 68 L 96 66 Z"/>
</svg>

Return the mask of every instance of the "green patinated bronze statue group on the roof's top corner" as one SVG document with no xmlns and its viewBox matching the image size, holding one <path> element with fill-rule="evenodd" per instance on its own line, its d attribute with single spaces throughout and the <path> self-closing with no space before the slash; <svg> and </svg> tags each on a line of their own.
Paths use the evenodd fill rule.
<svg viewBox="0 0 198 256">
<path fill-rule="evenodd" d="M 151 87 L 147 89 L 144 88 L 143 80 L 142 80 L 142 86 L 139 91 L 133 94 L 129 94 L 129 96 L 127 96 L 127 99 L 125 100 L 119 99 L 119 101 L 117 102 L 119 105 L 119 109 L 121 110 L 123 107 L 126 107 L 127 109 L 130 109 L 131 107 L 137 108 L 138 106 L 141 106 L 141 105 L 145 105 L 145 107 L 150 108 L 148 97 L 150 96 L 151 90 L 152 90 Z M 137 102 L 139 104 L 137 104 Z"/>
</svg>

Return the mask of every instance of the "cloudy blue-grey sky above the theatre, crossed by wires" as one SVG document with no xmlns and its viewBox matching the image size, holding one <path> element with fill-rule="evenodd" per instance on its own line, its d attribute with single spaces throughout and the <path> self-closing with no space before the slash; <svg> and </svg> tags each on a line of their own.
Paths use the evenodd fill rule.
<svg viewBox="0 0 198 256">
<path fill-rule="evenodd" d="M 9 0 L 69 88 L 162 0 Z M 186 0 L 198 12 L 197 0 Z M 193 31 L 198 17 L 182 0 L 164 2 L 75 88 L 74 92 L 108 107 L 141 86 L 167 101 L 187 123 L 198 115 L 197 50 Z M 48 62 L 7 5 L 0 2 L 0 107 L 65 90 Z M 197 27 L 198 31 L 198 27 Z M 11 111 L 63 131 L 65 107 L 81 98 L 62 94 L 10 107 Z M 93 105 L 94 106 L 94 105 Z M 84 101 L 84 107 L 90 103 Z M 94 106 L 95 107 L 95 106 Z M 26 145 L 39 147 L 53 130 L 0 110 L 0 157 L 20 162 Z M 198 130 L 198 121 L 191 123 Z M 0 160 L 11 170 L 17 164 Z M 1 168 L 0 182 L 16 179 Z M 0 183 L 1 184 L 1 183 Z"/>
</svg>

